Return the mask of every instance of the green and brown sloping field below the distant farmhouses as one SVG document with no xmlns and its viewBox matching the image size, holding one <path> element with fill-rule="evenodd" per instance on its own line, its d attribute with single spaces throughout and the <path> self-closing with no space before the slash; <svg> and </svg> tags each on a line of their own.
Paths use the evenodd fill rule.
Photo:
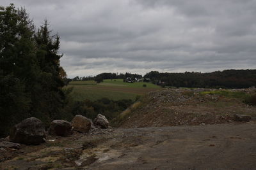
<svg viewBox="0 0 256 170">
<path fill-rule="evenodd" d="M 143 87 L 146 85 L 147 87 Z M 74 87 L 72 96 L 76 101 L 90 99 L 96 101 L 107 97 L 112 100 L 132 99 L 161 87 L 147 82 L 125 83 L 122 79 L 104 80 L 102 83 L 95 81 L 71 81 L 68 87 Z"/>
</svg>

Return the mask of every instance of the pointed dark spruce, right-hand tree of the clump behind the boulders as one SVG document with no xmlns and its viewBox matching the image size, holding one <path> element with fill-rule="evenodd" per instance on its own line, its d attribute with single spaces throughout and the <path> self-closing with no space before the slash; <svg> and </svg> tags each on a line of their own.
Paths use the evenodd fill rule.
<svg viewBox="0 0 256 170">
<path fill-rule="evenodd" d="M 49 25 L 45 20 L 44 25 L 35 34 L 35 41 L 36 57 L 42 73 L 38 75 L 37 90 L 40 93 L 35 93 L 33 96 L 32 111 L 44 122 L 49 123 L 52 119 L 62 117 L 61 111 L 65 100 L 65 94 L 61 88 L 65 85 L 63 78 L 66 73 L 60 67 L 60 58 L 63 55 L 58 53 L 60 37 L 58 34 L 51 36 Z"/>
</svg>

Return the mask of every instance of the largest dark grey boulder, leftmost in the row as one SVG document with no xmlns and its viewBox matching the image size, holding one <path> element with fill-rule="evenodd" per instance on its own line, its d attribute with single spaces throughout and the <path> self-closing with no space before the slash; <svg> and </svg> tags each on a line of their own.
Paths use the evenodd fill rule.
<svg viewBox="0 0 256 170">
<path fill-rule="evenodd" d="M 10 132 L 10 141 L 28 145 L 45 142 L 45 127 L 38 118 L 31 117 L 15 125 Z"/>
</svg>

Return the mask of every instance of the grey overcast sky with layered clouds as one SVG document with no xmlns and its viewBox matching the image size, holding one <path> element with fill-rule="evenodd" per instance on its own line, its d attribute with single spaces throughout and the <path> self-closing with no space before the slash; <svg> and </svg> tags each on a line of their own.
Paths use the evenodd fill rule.
<svg viewBox="0 0 256 170">
<path fill-rule="evenodd" d="M 256 0 L 1 0 L 61 36 L 68 77 L 255 69 Z"/>
</svg>

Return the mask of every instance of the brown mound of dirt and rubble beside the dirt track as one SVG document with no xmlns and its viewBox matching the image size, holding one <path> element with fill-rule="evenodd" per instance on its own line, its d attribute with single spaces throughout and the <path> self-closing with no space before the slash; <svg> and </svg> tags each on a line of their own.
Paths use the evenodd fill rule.
<svg viewBox="0 0 256 170">
<path fill-rule="evenodd" d="M 234 114 L 256 117 L 256 107 L 243 103 L 250 90 L 166 89 L 150 92 L 118 118 L 123 128 L 221 124 Z"/>
</svg>

